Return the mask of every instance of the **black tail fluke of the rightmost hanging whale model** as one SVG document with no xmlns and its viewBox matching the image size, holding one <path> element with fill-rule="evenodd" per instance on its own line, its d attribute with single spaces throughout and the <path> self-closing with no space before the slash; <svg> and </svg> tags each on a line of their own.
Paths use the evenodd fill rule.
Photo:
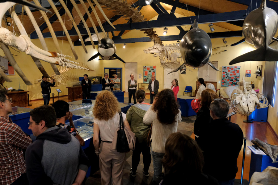
<svg viewBox="0 0 278 185">
<path fill-rule="evenodd" d="M 230 65 L 245 61 L 278 61 L 278 51 L 270 47 L 265 50 L 260 47 L 254 51 L 250 51 L 230 61 Z"/>
</svg>

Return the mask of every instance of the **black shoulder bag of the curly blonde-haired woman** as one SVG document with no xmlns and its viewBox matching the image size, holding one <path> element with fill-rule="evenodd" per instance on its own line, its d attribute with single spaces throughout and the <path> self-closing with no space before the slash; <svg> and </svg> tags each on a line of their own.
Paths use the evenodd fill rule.
<svg viewBox="0 0 278 185">
<path fill-rule="evenodd" d="M 121 153 L 129 152 L 130 149 L 128 147 L 128 141 L 124 132 L 124 120 L 122 112 L 120 114 L 120 128 L 117 131 L 118 138 L 117 138 L 117 151 Z"/>
</svg>

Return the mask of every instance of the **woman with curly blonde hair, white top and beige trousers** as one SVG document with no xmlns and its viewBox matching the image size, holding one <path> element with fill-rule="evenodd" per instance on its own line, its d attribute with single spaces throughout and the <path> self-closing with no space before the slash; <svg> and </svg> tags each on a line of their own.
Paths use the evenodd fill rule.
<svg viewBox="0 0 278 185">
<path fill-rule="evenodd" d="M 94 114 L 94 136 L 93 143 L 95 153 L 99 154 L 99 169 L 101 173 L 101 184 L 122 184 L 125 153 L 112 149 L 114 134 L 119 129 L 119 102 L 112 92 L 102 91 L 95 100 Z M 122 113 L 124 126 L 130 130 L 126 114 Z M 99 147 L 99 134 L 101 143 Z"/>
</svg>

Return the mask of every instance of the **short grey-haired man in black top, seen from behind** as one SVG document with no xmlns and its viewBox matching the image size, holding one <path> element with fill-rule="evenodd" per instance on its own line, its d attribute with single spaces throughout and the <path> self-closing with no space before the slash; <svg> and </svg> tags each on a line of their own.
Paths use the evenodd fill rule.
<svg viewBox="0 0 278 185">
<path fill-rule="evenodd" d="M 219 185 L 232 185 L 238 171 L 243 133 L 237 124 L 226 118 L 230 109 L 227 101 L 215 99 L 209 109 L 213 120 L 198 138 L 198 145 L 204 151 L 203 173 L 216 178 Z"/>
</svg>

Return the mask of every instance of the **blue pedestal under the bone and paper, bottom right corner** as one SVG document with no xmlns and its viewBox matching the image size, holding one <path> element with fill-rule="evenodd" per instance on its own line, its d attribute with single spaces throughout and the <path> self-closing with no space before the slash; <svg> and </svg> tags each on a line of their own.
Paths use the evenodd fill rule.
<svg viewBox="0 0 278 185">
<path fill-rule="evenodd" d="M 278 162 L 272 163 L 272 159 L 268 155 L 254 154 L 252 151 L 249 171 L 249 182 L 255 171 L 262 172 L 269 166 L 278 168 Z"/>
</svg>

